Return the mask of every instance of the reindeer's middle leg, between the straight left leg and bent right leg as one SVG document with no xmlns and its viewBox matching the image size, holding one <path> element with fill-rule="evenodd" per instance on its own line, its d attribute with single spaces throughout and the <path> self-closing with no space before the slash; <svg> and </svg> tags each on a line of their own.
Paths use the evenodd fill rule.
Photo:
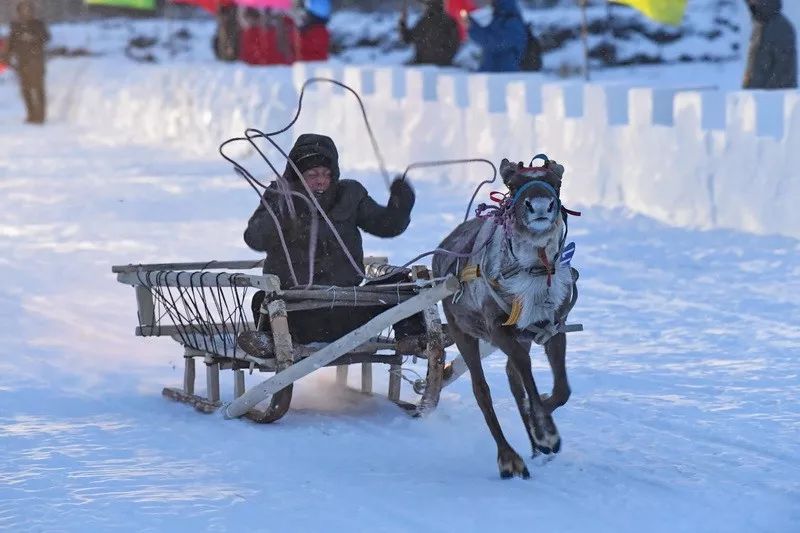
<svg viewBox="0 0 800 533">
<path fill-rule="evenodd" d="M 531 435 L 533 446 L 542 453 L 558 453 L 561 449 L 561 436 L 558 434 L 553 417 L 547 412 L 536 382 L 533 380 L 531 370 L 531 356 L 525 348 L 517 342 L 508 328 L 496 322 L 491 329 L 492 344 L 503 350 L 519 372 L 522 385 L 528 396 L 528 434 Z"/>
</svg>

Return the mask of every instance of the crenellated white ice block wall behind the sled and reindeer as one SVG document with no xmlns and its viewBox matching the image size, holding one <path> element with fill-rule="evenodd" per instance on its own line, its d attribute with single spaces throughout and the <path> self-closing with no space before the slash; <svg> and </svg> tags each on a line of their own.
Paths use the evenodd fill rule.
<svg viewBox="0 0 800 533">
<path fill-rule="evenodd" d="M 415 161 L 527 161 L 544 152 L 567 168 L 567 205 L 800 238 L 798 91 L 550 83 L 536 74 L 331 63 L 130 68 L 93 59 L 54 62 L 50 76 L 56 115 L 115 139 L 206 153 L 247 127 L 281 129 L 295 115 L 303 82 L 330 77 L 362 96 L 393 172 Z M 326 133 L 340 146 L 342 168 L 377 168 L 352 94 L 312 85 L 303 108 L 278 138 L 282 146 L 304 131 Z M 487 169 L 446 175 L 466 198 Z M 413 179 L 442 176 L 434 169 Z"/>
</svg>

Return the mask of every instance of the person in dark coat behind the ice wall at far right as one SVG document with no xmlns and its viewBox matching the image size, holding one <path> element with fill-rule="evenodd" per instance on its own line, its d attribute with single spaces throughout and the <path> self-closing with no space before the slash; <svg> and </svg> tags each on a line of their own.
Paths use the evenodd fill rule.
<svg viewBox="0 0 800 533">
<path fill-rule="evenodd" d="M 745 89 L 797 88 L 797 37 L 781 14 L 781 0 L 746 0 L 753 33 L 744 74 Z"/>
</svg>

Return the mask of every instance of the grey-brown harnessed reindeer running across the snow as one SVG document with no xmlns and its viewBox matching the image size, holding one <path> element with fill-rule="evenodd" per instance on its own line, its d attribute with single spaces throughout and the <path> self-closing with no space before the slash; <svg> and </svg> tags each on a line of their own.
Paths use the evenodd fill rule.
<svg viewBox="0 0 800 533">
<path fill-rule="evenodd" d="M 483 339 L 507 356 L 506 374 L 533 448 L 558 453 L 561 437 L 552 413 L 570 396 L 565 358 L 566 317 L 577 299 L 577 271 L 566 254 L 566 209 L 561 205 L 564 167 L 540 155 L 543 166 L 503 159 L 500 175 L 509 192 L 492 217 L 470 219 L 440 245 L 435 276 L 456 274 L 461 291 L 443 302 L 449 332 L 472 376 L 472 390 L 497 443 L 500 477 L 530 477 L 525 462 L 506 440 L 492 406 L 481 366 Z M 533 164 L 533 162 L 531 162 Z M 484 210 L 486 206 L 479 207 Z M 539 395 L 531 370 L 531 344 L 544 345 L 553 372 L 550 395 Z"/>
</svg>

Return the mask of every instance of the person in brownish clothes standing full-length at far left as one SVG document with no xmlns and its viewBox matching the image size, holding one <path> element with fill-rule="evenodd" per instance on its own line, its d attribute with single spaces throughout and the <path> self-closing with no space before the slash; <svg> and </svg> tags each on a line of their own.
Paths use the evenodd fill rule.
<svg viewBox="0 0 800 533">
<path fill-rule="evenodd" d="M 18 20 L 11 23 L 5 56 L 17 69 L 28 112 L 26 122 L 42 124 L 46 113 L 44 47 L 50 41 L 50 32 L 44 22 L 34 18 L 28 0 L 17 4 L 17 15 Z"/>
</svg>

